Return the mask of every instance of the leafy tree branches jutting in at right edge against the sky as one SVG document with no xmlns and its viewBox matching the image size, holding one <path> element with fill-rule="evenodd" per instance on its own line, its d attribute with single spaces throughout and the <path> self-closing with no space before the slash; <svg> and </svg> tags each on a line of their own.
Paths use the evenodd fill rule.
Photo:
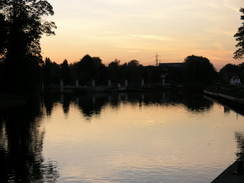
<svg viewBox="0 0 244 183">
<path fill-rule="evenodd" d="M 244 14 L 244 8 L 241 8 L 240 12 Z M 244 21 L 244 15 L 241 15 L 241 20 Z M 238 31 L 234 37 L 238 43 L 236 44 L 237 50 L 234 52 L 233 58 L 242 59 L 244 55 L 244 22 L 242 23 L 242 26 L 238 28 Z"/>
</svg>

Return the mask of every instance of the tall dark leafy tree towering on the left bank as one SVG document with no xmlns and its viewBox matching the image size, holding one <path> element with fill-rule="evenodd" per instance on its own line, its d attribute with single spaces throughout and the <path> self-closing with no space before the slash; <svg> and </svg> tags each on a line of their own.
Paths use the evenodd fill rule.
<svg viewBox="0 0 244 183">
<path fill-rule="evenodd" d="M 42 17 L 53 14 L 53 7 L 46 0 L 0 0 L 0 21 L 4 24 L 0 37 L 5 35 L 0 58 L 4 58 L 5 80 L 6 84 L 11 83 L 10 90 L 32 89 L 42 60 L 41 36 L 54 35 L 52 29 L 56 28 L 54 22 Z"/>
</svg>

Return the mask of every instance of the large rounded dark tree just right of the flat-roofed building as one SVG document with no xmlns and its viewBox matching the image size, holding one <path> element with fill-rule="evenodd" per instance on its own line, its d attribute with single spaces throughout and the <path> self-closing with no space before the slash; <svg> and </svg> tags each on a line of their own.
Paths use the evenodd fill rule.
<svg viewBox="0 0 244 183">
<path fill-rule="evenodd" d="M 186 82 L 211 83 L 217 72 L 210 61 L 201 56 L 188 56 L 184 60 L 184 79 Z"/>
</svg>

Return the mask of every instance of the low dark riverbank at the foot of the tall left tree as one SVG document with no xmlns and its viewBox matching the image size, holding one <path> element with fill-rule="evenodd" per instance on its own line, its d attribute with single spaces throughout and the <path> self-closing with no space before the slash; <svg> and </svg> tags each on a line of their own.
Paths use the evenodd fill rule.
<svg viewBox="0 0 244 183">
<path fill-rule="evenodd" d="M 23 97 L 7 93 L 0 93 L 0 109 L 24 105 L 25 103 L 26 100 Z"/>
</svg>

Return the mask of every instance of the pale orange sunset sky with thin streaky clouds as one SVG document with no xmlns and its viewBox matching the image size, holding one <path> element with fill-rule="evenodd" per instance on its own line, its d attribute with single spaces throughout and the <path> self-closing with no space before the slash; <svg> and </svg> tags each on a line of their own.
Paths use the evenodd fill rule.
<svg viewBox="0 0 244 183">
<path fill-rule="evenodd" d="M 243 0 L 48 0 L 56 36 L 43 36 L 44 57 L 62 63 L 84 55 L 107 64 L 138 60 L 154 65 L 183 62 L 189 55 L 207 57 L 215 68 L 233 59 L 233 35 L 241 26 Z"/>
</svg>

